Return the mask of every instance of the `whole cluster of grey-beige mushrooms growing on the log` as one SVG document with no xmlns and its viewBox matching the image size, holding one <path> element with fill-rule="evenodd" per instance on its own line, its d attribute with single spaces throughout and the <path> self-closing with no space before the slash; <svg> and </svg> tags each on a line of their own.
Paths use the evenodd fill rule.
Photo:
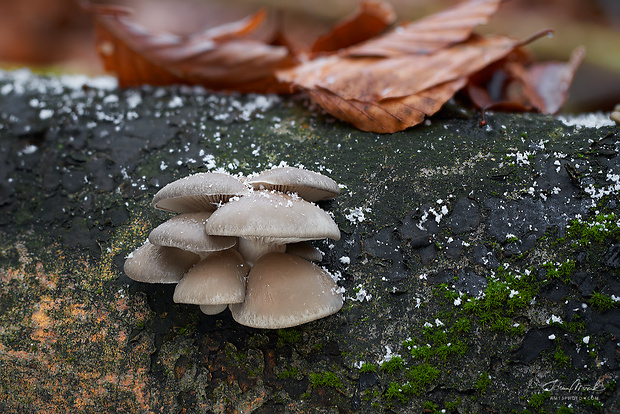
<svg viewBox="0 0 620 414">
<path fill-rule="evenodd" d="M 176 283 L 176 303 L 213 315 L 230 308 L 254 328 L 300 325 L 342 307 L 322 253 L 309 240 L 340 239 L 332 217 L 315 202 L 336 197 L 322 174 L 276 167 L 249 177 L 199 173 L 174 181 L 153 206 L 179 213 L 159 225 L 125 261 L 125 273 L 146 283 Z"/>
</svg>

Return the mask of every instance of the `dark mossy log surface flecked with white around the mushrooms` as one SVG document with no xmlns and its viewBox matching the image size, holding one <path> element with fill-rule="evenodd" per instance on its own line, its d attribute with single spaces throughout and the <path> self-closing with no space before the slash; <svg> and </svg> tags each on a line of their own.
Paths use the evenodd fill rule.
<svg viewBox="0 0 620 414">
<path fill-rule="evenodd" d="M 617 126 L 443 111 L 377 135 L 98 82 L 0 77 L 3 412 L 618 409 Z M 253 329 L 123 273 L 162 186 L 281 162 L 342 185 L 320 203 L 342 238 L 315 243 L 340 312 Z"/>
</svg>

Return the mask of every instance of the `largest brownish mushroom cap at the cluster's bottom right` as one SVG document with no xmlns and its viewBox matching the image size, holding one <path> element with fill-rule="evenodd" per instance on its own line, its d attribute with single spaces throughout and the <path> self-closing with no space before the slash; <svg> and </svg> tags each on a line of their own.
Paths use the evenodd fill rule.
<svg viewBox="0 0 620 414">
<path fill-rule="evenodd" d="M 280 329 L 338 312 L 338 285 L 325 270 L 287 253 L 268 253 L 254 264 L 245 301 L 230 305 L 233 318 L 253 328 Z"/>
</svg>

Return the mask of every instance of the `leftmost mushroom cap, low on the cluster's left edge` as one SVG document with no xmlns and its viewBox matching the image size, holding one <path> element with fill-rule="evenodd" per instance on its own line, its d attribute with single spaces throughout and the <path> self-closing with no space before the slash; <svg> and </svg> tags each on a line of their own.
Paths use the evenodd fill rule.
<svg viewBox="0 0 620 414">
<path fill-rule="evenodd" d="M 145 283 L 177 283 L 200 260 L 197 254 L 148 240 L 127 256 L 124 270 L 130 279 Z"/>
</svg>

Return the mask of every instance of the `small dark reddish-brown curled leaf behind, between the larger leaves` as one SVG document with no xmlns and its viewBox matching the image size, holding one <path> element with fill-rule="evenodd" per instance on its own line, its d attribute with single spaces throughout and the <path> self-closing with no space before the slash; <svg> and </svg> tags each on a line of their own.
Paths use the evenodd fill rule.
<svg viewBox="0 0 620 414">
<path fill-rule="evenodd" d="M 396 21 L 392 6 L 384 1 L 364 0 L 358 10 L 319 37 L 312 46 L 313 53 L 333 52 L 368 40 L 384 32 Z"/>
</svg>

